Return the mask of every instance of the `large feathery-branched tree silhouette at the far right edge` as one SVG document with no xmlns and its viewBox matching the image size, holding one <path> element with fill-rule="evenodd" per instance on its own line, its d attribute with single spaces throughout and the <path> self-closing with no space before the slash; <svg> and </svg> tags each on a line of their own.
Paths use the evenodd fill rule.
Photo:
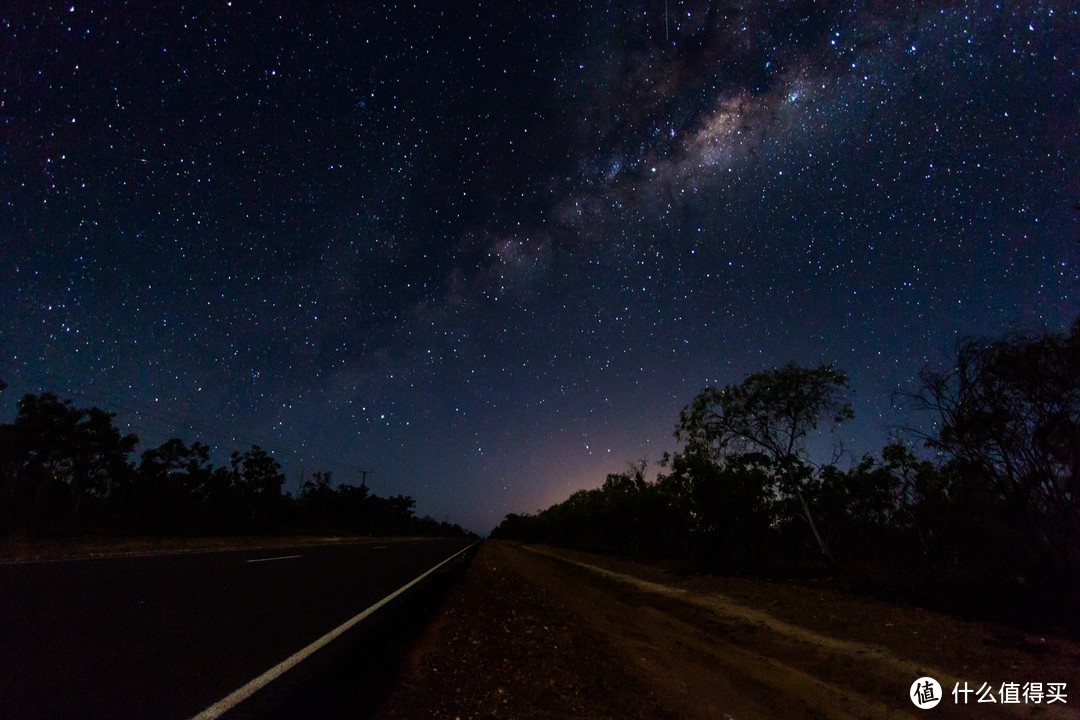
<svg viewBox="0 0 1080 720">
<path fill-rule="evenodd" d="M 971 340 L 913 393 L 926 444 L 983 478 L 1048 567 L 1080 570 L 1080 317 L 1071 331 Z"/>
</svg>

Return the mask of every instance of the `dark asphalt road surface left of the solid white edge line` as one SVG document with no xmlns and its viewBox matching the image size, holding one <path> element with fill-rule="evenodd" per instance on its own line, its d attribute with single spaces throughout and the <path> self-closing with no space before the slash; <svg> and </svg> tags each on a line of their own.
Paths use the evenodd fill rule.
<svg viewBox="0 0 1080 720">
<path fill-rule="evenodd" d="M 190 718 L 468 544 L 2 565 L 0 718 Z"/>
</svg>

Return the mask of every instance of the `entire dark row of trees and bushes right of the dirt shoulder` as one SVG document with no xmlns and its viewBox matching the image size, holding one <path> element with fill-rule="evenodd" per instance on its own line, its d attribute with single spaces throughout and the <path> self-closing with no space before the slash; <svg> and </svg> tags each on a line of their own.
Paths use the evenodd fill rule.
<svg viewBox="0 0 1080 720">
<path fill-rule="evenodd" d="M 768 576 L 832 573 L 908 601 L 1076 624 L 1080 318 L 963 344 L 904 397 L 930 433 L 842 467 L 811 462 L 853 417 L 846 375 L 795 365 L 706 388 L 656 481 L 645 463 L 495 538 L 677 558 Z M 923 450 L 917 452 L 919 446 Z"/>
</svg>

